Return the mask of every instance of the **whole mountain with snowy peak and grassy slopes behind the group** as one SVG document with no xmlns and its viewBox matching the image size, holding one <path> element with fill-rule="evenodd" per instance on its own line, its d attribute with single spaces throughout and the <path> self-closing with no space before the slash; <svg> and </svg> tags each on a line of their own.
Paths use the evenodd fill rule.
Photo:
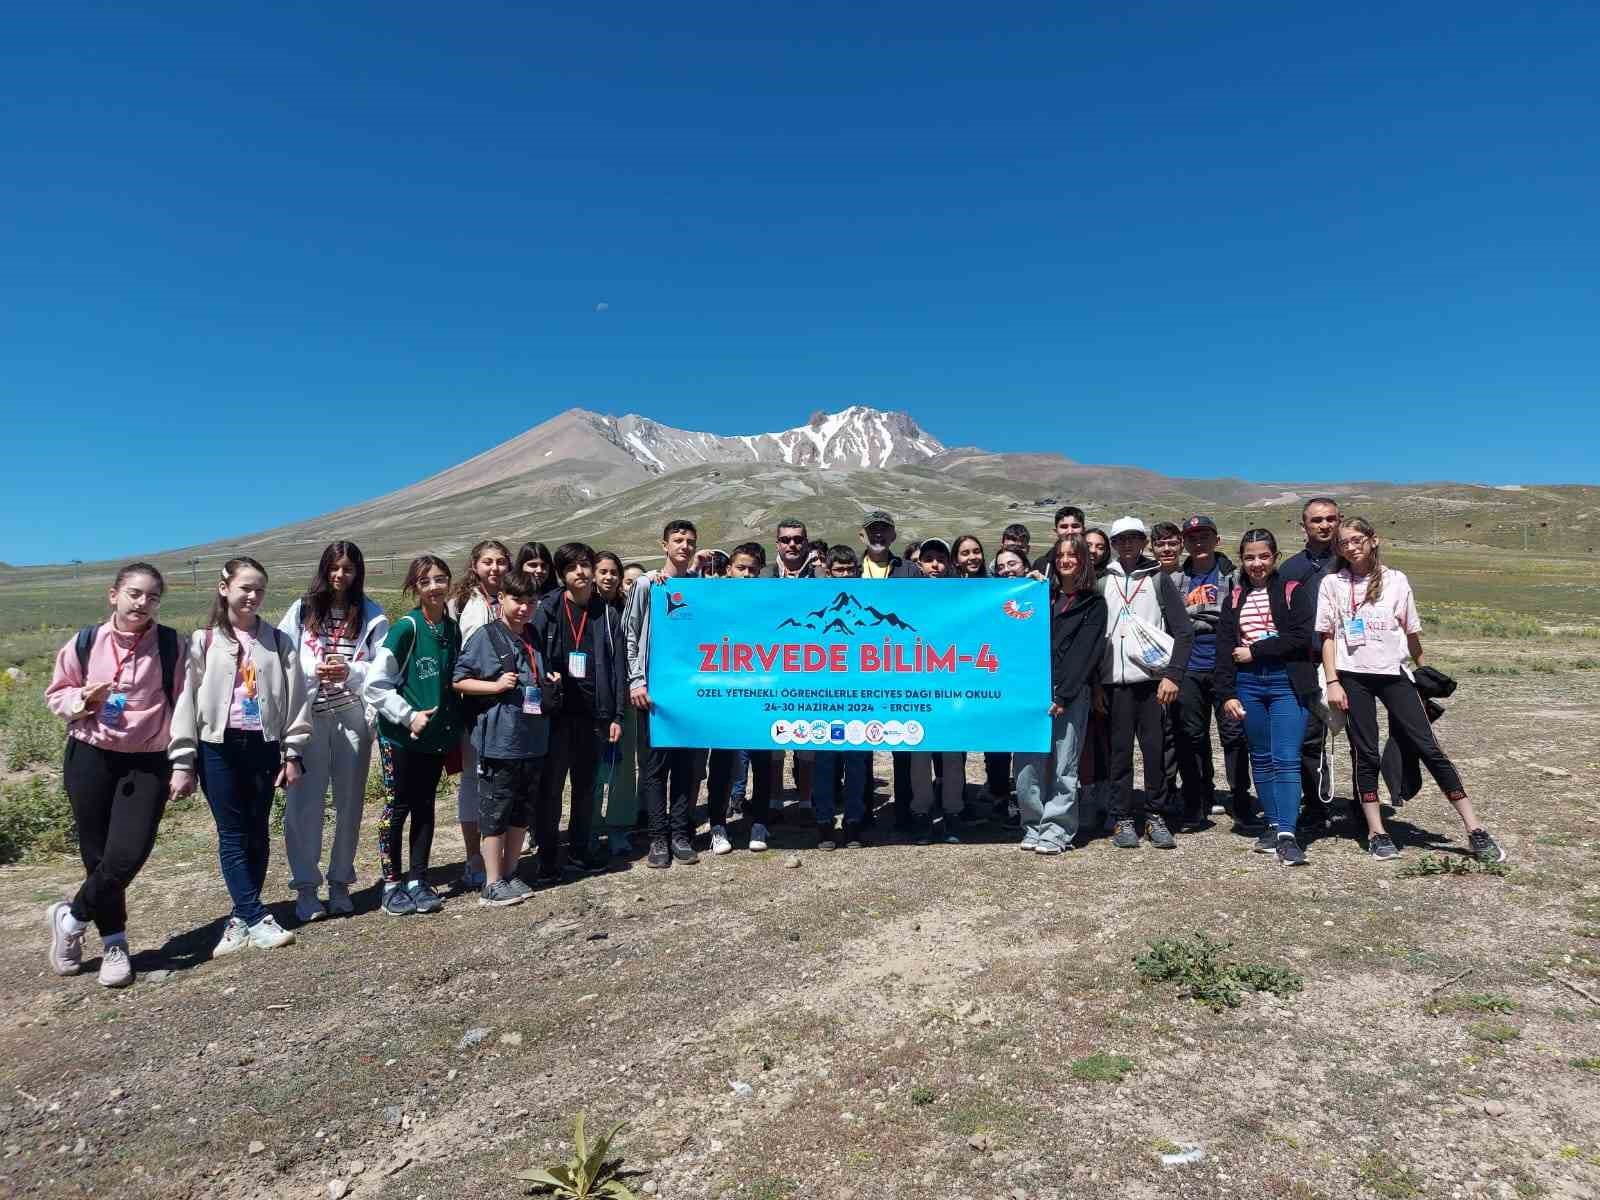
<svg viewBox="0 0 1600 1200">
<path fill-rule="evenodd" d="M 771 541 L 779 517 L 797 515 L 813 534 L 854 539 L 861 515 L 886 509 L 902 539 L 974 531 L 994 549 L 1013 520 L 1035 544 L 1059 504 L 1078 504 L 1093 523 L 1131 512 L 1178 520 L 1216 517 L 1224 534 L 1246 525 L 1298 539 L 1299 507 L 1330 493 L 1390 538 L 1453 546 L 1494 546 L 1594 554 L 1600 546 L 1597 486 L 1395 485 L 1382 482 L 1246 482 L 1178 478 L 1136 466 L 1094 466 L 1054 453 L 947 448 L 907 413 L 853 406 L 816 413 L 797 429 L 722 437 L 650 418 L 571 408 L 509 442 L 406 488 L 323 517 L 206 546 L 154 550 L 163 570 L 190 558 L 213 563 L 248 552 L 269 568 L 301 571 L 320 547 L 350 538 L 374 574 L 435 550 L 453 562 L 482 536 L 515 544 L 581 538 L 630 557 L 659 554 L 670 515 L 688 515 L 706 546 Z M 83 563 L 91 576 L 99 563 Z M 69 566 L 11 568 L 0 582 L 70 576 Z"/>
</svg>

